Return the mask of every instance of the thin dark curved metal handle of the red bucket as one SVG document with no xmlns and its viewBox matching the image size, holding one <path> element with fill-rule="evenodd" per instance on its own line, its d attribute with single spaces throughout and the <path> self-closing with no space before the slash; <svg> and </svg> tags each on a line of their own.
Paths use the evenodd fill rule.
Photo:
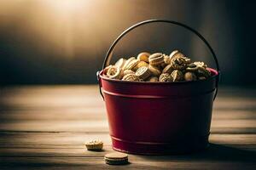
<svg viewBox="0 0 256 170">
<path fill-rule="evenodd" d="M 201 40 L 203 42 L 205 42 L 205 44 L 207 45 L 207 48 L 210 49 L 212 57 L 215 61 L 216 64 L 216 69 L 218 71 L 218 75 L 217 75 L 217 81 L 216 81 L 216 91 L 214 94 L 214 98 L 213 100 L 216 98 L 217 94 L 218 94 L 218 82 L 219 82 L 219 75 L 220 75 L 220 71 L 219 71 L 219 65 L 218 65 L 218 59 L 216 57 L 216 54 L 214 53 L 212 47 L 210 46 L 210 44 L 207 42 L 206 38 L 204 38 L 198 31 L 195 31 L 193 28 L 184 25 L 183 23 L 177 22 L 177 21 L 173 21 L 173 20 L 144 20 L 142 22 L 139 22 L 131 27 L 129 27 L 128 29 L 126 29 L 125 31 L 123 31 L 119 37 L 117 37 L 114 42 L 112 43 L 111 47 L 108 49 L 108 53 L 104 59 L 103 65 L 102 65 L 102 70 L 109 65 L 110 59 L 112 58 L 113 55 L 113 49 L 115 48 L 116 44 L 119 42 L 119 40 L 125 36 L 125 34 L 127 34 L 128 32 L 132 31 L 133 29 L 137 28 L 138 26 L 143 26 L 149 23 L 154 23 L 154 22 L 165 22 L 165 23 L 169 23 L 169 24 L 173 24 L 173 25 L 177 25 L 177 26 L 182 26 L 183 28 L 188 29 L 189 31 L 192 31 L 193 33 L 195 33 L 196 36 L 200 37 Z M 97 71 L 97 77 L 98 77 L 98 81 L 99 81 L 99 88 L 100 88 L 100 93 L 102 95 L 102 98 L 104 99 L 104 96 L 102 94 L 102 85 L 101 85 L 101 80 L 100 80 L 100 71 Z"/>
</svg>

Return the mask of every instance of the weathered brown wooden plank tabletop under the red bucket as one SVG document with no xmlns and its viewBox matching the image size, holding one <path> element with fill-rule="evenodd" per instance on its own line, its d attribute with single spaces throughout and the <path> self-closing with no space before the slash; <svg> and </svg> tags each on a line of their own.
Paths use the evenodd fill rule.
<svg viewBox="0 0 256 170">
<path fill-rule="evenodd" d="M 96 86 L 1 88 L 0 169 L 256 169 L 256 89 L 221 88 L 208 150 L 185 156 L 135 156 L 109 166 L 112 152 Z M 102 152 L 84 141 L 102 139 Z"/>
</svg>

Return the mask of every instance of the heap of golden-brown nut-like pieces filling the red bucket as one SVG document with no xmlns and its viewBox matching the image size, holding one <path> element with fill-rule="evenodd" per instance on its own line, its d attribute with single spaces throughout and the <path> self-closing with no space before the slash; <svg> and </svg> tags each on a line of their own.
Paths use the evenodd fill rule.
<svg viewBox="0 0 256 170">
<path fill-rule="evenodd" d="M 204 62 L 192 62 L 178 50 L 170 55 L 143 52 L 137 58 L 121 58 L 115 65 L 108 65 L 103 76 L 133 82 L 180 82 L 206 80 L 211 77 Z"/>
</svg>

